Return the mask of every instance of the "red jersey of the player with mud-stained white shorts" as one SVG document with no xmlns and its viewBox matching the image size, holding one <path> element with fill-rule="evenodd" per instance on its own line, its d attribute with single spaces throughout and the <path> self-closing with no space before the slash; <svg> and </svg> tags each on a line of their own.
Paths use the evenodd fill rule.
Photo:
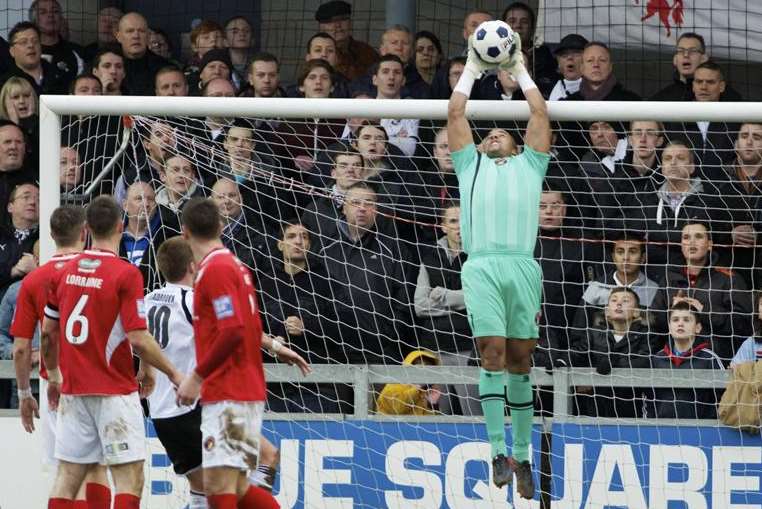
<svg viewBox="0 0 762 509">
<path fill-rule="evenodd" d="M 251 273 L 230 251 L 215 249 L 199 265 L 193 287 L 193 333 L 200 362 L 220 334 L 243 327 L 241 344 L 204 379 L 201 402 L 264 401 L 262 321 Z"/>
</svg>

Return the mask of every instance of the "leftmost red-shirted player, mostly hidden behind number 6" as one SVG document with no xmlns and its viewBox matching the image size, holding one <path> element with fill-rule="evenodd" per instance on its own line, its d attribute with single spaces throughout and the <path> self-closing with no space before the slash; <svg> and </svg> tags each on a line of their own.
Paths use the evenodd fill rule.
<svg viewBox="0 0 762 509">
<path fill-rule="evenodd" d="M 50 234 L 56 244 L 56 252 L 47 263 L 30 272 L 21 281 L 16 312 L 13 315 L 10 333 L 13 336 L 13 363 L 16 367 L 16 381 L 19 388 L 21 423 L 29 433 L 35 430 L 34 417 L 39 417 L 37 400 L 32 396 L 30 373 L 32 370 L 32 337 L 37 325 L 45 317 L 50 281 L 64 264 L 74 258 L 85 244 L 85 212 L 82 207 L 63 205 L 50 216 Z M 50 411 L 46 401 L 48 373 L 45 363 L 40 363 L 40 398 L 42 411 L 46 413 L 42 421 L 43 463 L 55 465 L 56 413 Z M 88 506 L 89 504 L 89 506 Z M 79 488 L 75 509 L 109 509 L 111 490 L 109 489 L 106 467 L 94 465 L 85 476 Z"/>
</svg>

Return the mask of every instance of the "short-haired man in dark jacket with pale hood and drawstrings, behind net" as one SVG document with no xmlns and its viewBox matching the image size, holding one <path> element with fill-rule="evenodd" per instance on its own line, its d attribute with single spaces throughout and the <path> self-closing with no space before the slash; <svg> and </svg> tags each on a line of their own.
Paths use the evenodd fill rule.
<svg viewBox="0 0 762 509">
<path fill-rule="evenodd" d="M 675 246 L 680 244 L 682 228 L 691 218 L 709 221 L 718 244 L 730 243 L 732 216 L 716 188 L 696 176 L 693 151 L 686 142 L 668 143 L 661 163 L 664 183 L 655 193 L 643 194 L 639 203 L 626 208 L 632 229 L 648 234 L 649 265 L 658 268 L 683 263 Z"/>
</svg>

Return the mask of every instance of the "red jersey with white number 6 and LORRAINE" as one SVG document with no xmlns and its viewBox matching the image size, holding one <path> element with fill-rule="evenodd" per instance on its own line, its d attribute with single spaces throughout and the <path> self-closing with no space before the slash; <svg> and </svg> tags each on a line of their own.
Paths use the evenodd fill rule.
<svg viewBox="0 0 762 509">
<path fill-rule="evenodd" d="M 127 332 L 146 328 L 143 278 L 116 254 L 90 249 L 53 280 L 45 316 L 60 325 L 63 394 L 138 390 Z"/>
</svg>

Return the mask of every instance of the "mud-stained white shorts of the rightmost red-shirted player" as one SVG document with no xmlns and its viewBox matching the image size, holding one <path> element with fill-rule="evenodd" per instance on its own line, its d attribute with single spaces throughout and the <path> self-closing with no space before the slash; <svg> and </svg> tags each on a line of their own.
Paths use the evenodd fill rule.
<svg viewBox="0 0 762 509">
<path fill-rule="evenodd" d="M 201 466 L 256 470 L 263 401 L 220 401 L 201 407 Z"/>
</svg>

